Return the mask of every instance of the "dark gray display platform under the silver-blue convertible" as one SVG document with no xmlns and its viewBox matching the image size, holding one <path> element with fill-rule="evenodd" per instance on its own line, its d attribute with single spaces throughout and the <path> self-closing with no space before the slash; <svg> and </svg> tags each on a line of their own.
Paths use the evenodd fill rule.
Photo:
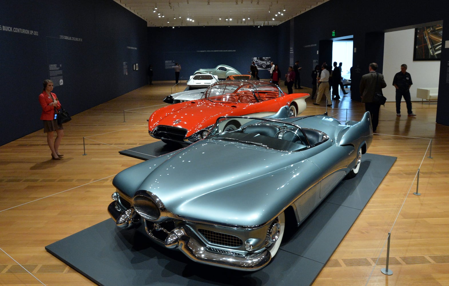
<svg viewBox="0 0 449 286">
<path fill-rule="evenodd" d="M 256 272 L 195 263 L 154 244 L 141 229 L 118 229 L 112 219 L 45 249 L 104 286 L 310 285 L 396 161 L 376 154 L 362 159 L 359 174 L 343 180 L 298 229 L 285 235 L 276 257 Z"/>
</svg>

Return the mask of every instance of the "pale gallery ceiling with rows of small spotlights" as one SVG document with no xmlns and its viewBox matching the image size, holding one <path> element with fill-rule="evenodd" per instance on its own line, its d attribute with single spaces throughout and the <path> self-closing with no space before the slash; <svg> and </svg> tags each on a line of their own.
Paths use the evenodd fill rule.
<svg viewBox="0 0 449 286">
<path fill-rule="evenodd" d="M 328 0 L 114 0 L 149 27 L 277 26 Z"/>
</svg>

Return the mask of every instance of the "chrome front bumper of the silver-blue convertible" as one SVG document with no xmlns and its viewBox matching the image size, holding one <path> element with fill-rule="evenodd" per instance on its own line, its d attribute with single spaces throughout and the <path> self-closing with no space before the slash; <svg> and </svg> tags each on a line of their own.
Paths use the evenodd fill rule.
<svg viewBox="0 0 449 286">
<path fill-rule="evenodd" d="M 117 201 L 111 202 L 108 206 L 108 212 L 119 228 L 131 229 L 137 227 L 142 221 L 145 222 L 132 208 L 125 211 L 119 209 Z M 146 223 L 145 229 L 152 240 L 160 243 L 151 235 Z M 226 251 L 219 253 L 217 252 L 220 250 L 219 248 L 216 248 L 216 251 L 211 251 L 212 247 L 204 244 L 191 229 L 182 226 L 167 231 L 167 238 L 163 245 L 169 249 L 181 251 L 198 263 L 242 271 L 259 270 L 269 264 L 271 260 L 271 254 L 267 249 L 249 255 L 230 255 L 225 253 Z"/>
</svg>

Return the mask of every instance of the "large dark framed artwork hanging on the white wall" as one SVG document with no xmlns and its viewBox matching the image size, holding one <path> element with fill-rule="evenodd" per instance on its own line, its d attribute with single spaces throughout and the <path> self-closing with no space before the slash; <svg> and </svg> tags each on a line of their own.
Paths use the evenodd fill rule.
<svg viewBox="0 0 449 286">
<path fill-rule="evenodd" d="M 439 61 L 441 57 L 443 25 L 415 28 L 414 61 Z"/>
</svg>

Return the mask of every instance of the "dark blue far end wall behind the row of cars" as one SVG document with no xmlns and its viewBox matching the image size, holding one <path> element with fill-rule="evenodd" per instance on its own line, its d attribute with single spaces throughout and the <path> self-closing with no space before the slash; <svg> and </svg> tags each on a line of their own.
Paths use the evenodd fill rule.
<svg viewBox="0 0 449 286">
<path fill-rule="evenodd" d="M 148 57 L 154 80 L 175 80 L 174 70 L 165 62 L 179 62 L 181 79 L 195 70 L 228 65 L 247 74 L 253 57 L 277 61 L 277 27 L 208 26 L 148 28 Z M 288 52 L 287 52 L 288 53 Z M 260 78 L 269 78 L 260 70 Z"/>
</svg>

